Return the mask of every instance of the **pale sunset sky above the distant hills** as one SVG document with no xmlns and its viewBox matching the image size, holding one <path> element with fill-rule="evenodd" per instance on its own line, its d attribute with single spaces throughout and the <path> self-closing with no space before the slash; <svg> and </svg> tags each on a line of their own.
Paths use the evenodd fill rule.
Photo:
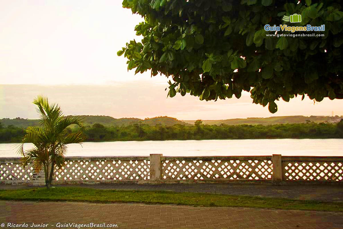
<svg viewBox="0 0 343 229">
<path fill-rule="evenodd" d="M 38 118 L 38 94 L 65 115 L 170 116 L 183 120 L 343 115 L 343 100 L 315 103 L 301 96 L 277 101 L 279 110 L 252 104 L 249 93 L 217 102 L 177 94 L 166 98 L 167 78 L 127 71 L 117 51 L 143 19 L 121 0 L 0 0 L 0 118 Z"/>
</svg>

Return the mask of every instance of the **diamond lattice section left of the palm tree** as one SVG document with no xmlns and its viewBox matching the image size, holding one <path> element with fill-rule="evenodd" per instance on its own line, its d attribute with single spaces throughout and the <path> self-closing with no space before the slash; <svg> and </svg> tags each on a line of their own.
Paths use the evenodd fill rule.
<svg viewBox="0 0 343 229">
<path fill-rule="evenodd" d="M 0 163 L 0 180 L 30 180 L 33 173 L 31 164 L 24 169 L 22 163 Z"/>
</svg>

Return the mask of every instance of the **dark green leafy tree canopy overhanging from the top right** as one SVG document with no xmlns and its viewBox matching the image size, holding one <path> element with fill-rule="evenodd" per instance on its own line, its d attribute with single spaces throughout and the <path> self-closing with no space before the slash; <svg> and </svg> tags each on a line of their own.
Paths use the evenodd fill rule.
<svg viewBox="0 0 343 229">
<path fill-rule="evenodd" d="M 277 111 L 275 100 L 297 95 L 343 99 L 342 1 L 124 0 L 145 21 L 135 27 L 141 42 L 118 51 L 135 73 L 171 76 L 170 97 L 240 98 Z M 301 14 L 301 23 L 282 21 Z M 267 37 L 264 25 L 325 25 L 323 37 Z M 278 32 L 287 34 L 291 32 Z M 297 32 L 312 33 L 312 32 Z M 237 72 L 234 72 L 238 69 Z"/>
</svg>

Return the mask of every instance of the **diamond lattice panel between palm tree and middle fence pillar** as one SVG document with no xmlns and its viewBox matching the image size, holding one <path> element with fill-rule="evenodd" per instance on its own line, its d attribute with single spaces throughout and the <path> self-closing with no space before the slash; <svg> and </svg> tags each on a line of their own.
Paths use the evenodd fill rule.
<svg viewBox="0 0 343 229">
<path fill-rule="evenodd" d="M 148 180 L 150 161 L 67 161 L 56 180 Z"/>
</svg>

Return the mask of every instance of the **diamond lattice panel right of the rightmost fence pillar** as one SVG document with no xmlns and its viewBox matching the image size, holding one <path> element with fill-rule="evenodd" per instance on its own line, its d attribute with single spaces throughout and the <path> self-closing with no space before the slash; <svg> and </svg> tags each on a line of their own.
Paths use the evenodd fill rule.
<svg viewBox="0 0 343 229">
<path fill-rule="evenodd" d="M 282 162 L 286 180 L 343 181 L 343 162 L 285 161 Z"/>
</svg>

